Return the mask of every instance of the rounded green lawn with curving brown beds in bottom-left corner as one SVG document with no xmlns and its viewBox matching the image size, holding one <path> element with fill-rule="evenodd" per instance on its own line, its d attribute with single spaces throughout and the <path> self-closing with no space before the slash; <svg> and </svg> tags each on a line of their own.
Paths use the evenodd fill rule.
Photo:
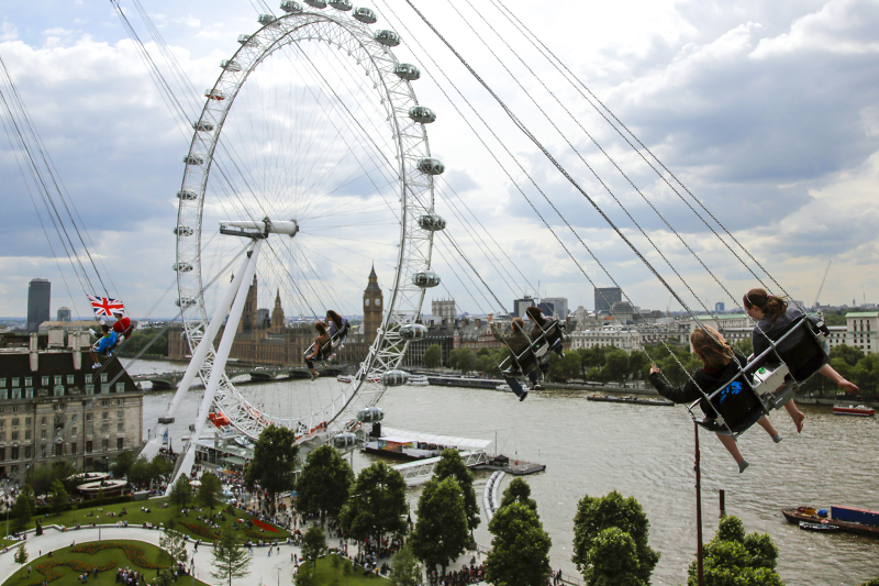
<svg viewBox="0 0 879 586">
<path fill-rule="evenodd" d="M 25 548 L 27 545 L 25 544 Z M 90 551 L 104 548 L 94 553 Z M 84 550 L 77 552 L 76 550 Z M 142 541 L 113 540 L 84 543 L 75 548 L 64 548 L 52 552 L 36 560 L 33 559 L 35 552 L 31 554 L 31 560 L 15 572 L 2 586 L 40 586 L 47 579 L 53 586 L 81 586 L 78 576 L 85 571 L 98 567 L 98 577 L 89 575 L 90 586 L 115 586 L 116 570 L 129 567 L 136 572 L 143 572 L 148 581 L 156 577 L 159 566 L 170 566 L 170 557 L 162 553 L 155 545 Z M 11 554 L 8 554 L 11 555 Z M 27 566 L 31 566 L 31 577 L 27 577 Z M 192 578 L 185 578 L 182 585 L 191 584 Z M 196 581 L 196 584 L 208 586 L 203 582 Z"/>
</svg>

